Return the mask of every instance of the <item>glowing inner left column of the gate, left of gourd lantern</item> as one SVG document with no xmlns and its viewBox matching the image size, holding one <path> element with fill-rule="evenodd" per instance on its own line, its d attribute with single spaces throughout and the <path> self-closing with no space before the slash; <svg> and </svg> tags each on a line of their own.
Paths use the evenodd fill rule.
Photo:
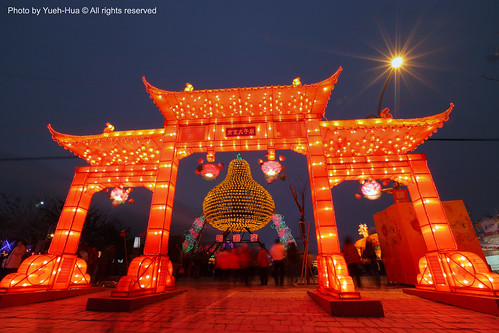
<svg viewBox="0 0 499 333">
<path fill-rule="evenodd" d="M 167 254 L 179 163 L 176 138 L 176 127 L 167 127 L 152 189 L 144 255 L 132 260 L 127 275 L 120 279 L 113 296 L 159 293 L 175 285 L 173 265 Z"/>
</svg>

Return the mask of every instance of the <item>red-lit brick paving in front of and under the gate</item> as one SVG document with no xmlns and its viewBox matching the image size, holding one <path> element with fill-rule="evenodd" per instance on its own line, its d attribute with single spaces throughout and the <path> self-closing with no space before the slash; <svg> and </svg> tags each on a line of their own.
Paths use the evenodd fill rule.
<svg viewBox="0 0 499 333">
<path fill-rule="evenodd" d="M 187 292 L 132 313 L 85 311 L 88 297 L 0 309 L 0 332 L 497 332 L 499 318 L 440 304 L 401 289 L 363 289 L 384 318 L 331 317 L 305 287 L 177 284 Z M 308 287 L 313 290 L 314 287 Z"/>
</svg>

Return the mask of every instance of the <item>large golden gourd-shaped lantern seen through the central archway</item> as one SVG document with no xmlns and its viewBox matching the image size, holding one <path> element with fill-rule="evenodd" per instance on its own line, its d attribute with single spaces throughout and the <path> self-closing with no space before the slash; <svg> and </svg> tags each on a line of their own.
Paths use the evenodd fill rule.
<svg viewBox="0 0 499 333">
<path fill-rule="evenodd" d="M 232 160 L 227 176 L 204 199 L 206 221 L 218 230 L 233 232 L 255 231 L 270 222 L 274 200 L 251 177 L 248 162 Z"/>
</svg>

